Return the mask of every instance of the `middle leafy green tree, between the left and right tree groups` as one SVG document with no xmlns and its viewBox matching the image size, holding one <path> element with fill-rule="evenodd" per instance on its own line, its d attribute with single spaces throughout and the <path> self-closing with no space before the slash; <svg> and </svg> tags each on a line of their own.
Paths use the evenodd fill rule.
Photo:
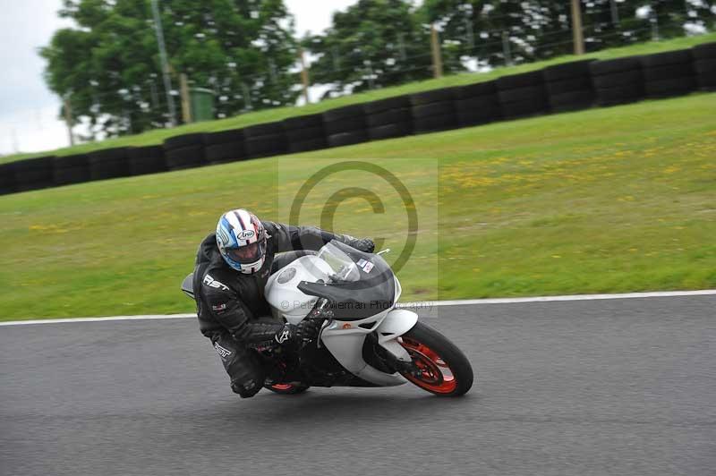
<svg viewBox="0 0 716 476">
<path fill-rule="evenodd" d="M 328 95 L 432 75 L 429 31 L 405 0 L 359 0 L 303 44 L 316 56 L 311 80 L 330 85 Z"/>
</svg>

